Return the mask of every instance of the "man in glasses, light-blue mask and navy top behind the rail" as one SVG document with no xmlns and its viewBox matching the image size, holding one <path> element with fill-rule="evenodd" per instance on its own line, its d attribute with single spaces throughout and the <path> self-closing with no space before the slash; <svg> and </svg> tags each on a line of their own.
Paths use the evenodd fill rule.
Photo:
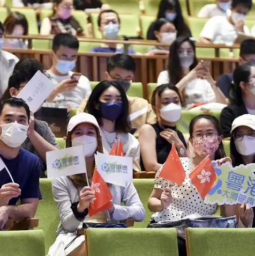
<svg viewBox="0 0 255 256">
<path fill-rule="evenodd" d="M 103 39 L 118 39 L 121 19 L 114 10 L 103 10 L 97 18 L 97 25 Z M 124 48 L 119 48 L 117 43 L 103 43 L 100 47 L 91 49 L 92 53 L 124 53 Z M 128 49 L 129 54 L 135 54 L 133 49 Z"/>
</svg>

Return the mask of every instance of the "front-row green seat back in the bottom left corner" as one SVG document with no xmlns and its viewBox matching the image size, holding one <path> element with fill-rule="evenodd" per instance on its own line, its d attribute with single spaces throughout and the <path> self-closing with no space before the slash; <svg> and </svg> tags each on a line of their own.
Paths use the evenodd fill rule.
<svg viewBox="0 0 255 256">
<path fill-rule="evenodd" d="M 1 256 L 45 256 L 42 230 L 0 231 Z"/>
</svg>

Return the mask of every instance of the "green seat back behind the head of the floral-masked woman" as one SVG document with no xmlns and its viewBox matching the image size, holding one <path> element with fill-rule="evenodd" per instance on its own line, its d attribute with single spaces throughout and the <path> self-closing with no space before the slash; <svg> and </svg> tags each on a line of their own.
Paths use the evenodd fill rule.
<svg viewBox="0 0 255 256">
<path fill-rule="evenodd" d="M 220 120 L 221 111 L 210 111 L 211 115 Z M 202 111 L 189 111 L 182 110 L 181 119 L 177 122 L 176 126 L 182 133 L 189 133 L 190 121 L 197 115 L 203 114 Z"/>
</svg>

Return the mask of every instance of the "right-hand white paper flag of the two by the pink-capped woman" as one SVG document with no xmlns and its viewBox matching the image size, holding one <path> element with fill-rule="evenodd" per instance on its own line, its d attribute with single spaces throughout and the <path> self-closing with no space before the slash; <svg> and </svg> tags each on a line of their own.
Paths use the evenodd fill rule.
<svg viewBox="0 0 255 256">
<path fill-rule="evenodd" d="M 132 157 L 111 156 L 97 152 L 97 171 L 104 181 L 125 187 L 126 182 L 133 182 Z"/>
</svg>

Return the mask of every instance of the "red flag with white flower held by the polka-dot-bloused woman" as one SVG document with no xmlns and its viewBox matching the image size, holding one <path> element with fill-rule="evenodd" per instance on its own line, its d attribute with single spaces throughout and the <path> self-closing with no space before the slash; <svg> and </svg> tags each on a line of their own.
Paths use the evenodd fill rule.
<svg viewBox="0 0 255 256">
<path fill-rule="evenodd" d="M 189 174 L 189 177 L 201 197 L 205 198 L 216 180 L 216 173 L 211 159 L 207 156 L 202 160 L 202 162 Z"/>
</svg>

